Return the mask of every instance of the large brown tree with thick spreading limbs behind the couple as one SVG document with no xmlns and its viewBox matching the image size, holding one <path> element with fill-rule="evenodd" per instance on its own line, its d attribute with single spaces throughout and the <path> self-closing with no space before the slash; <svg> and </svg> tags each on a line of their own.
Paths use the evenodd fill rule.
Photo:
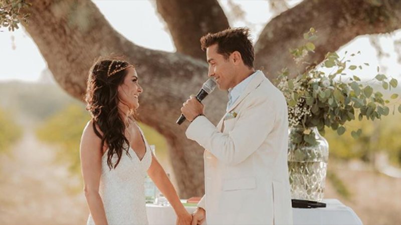
<svg viewBox="0 0 401 225">
<path fill-rule="evenodd" d="M 199 38 L 230 26 L 217 0 L 157 0 L 155 7 L 167 23 L 177 52 L 151 50 L 120 35 L 90 0 L 32 0 L 27 32 L 38 45 L 57 82 L 82 99 L 88 70 L 99 55 L 121 53 L 137 67 L 141 84 L 140 119 L 167 140 L 181 197 L 204 192 L 203 149 L 185 137 L 187 123 L 175 124 L 179 108 L 206 79 L 205 53 Z M 185 18 L 185 19 L 182 19 Z M 399 0 L 304 0 L 268 21 L 255 42 L 256 67 L 269 78 L 298 67 L 288 49 L 303 43 L 310 27 L 318 30 L 316 63 L 361 34 L 401 28 Z M 149 38 L 152 38 L 149 36 Z M 224 113 L 226 94 L 215 91 L 206 100 L 207 116 L 217 122 Z"/>
</svg>

